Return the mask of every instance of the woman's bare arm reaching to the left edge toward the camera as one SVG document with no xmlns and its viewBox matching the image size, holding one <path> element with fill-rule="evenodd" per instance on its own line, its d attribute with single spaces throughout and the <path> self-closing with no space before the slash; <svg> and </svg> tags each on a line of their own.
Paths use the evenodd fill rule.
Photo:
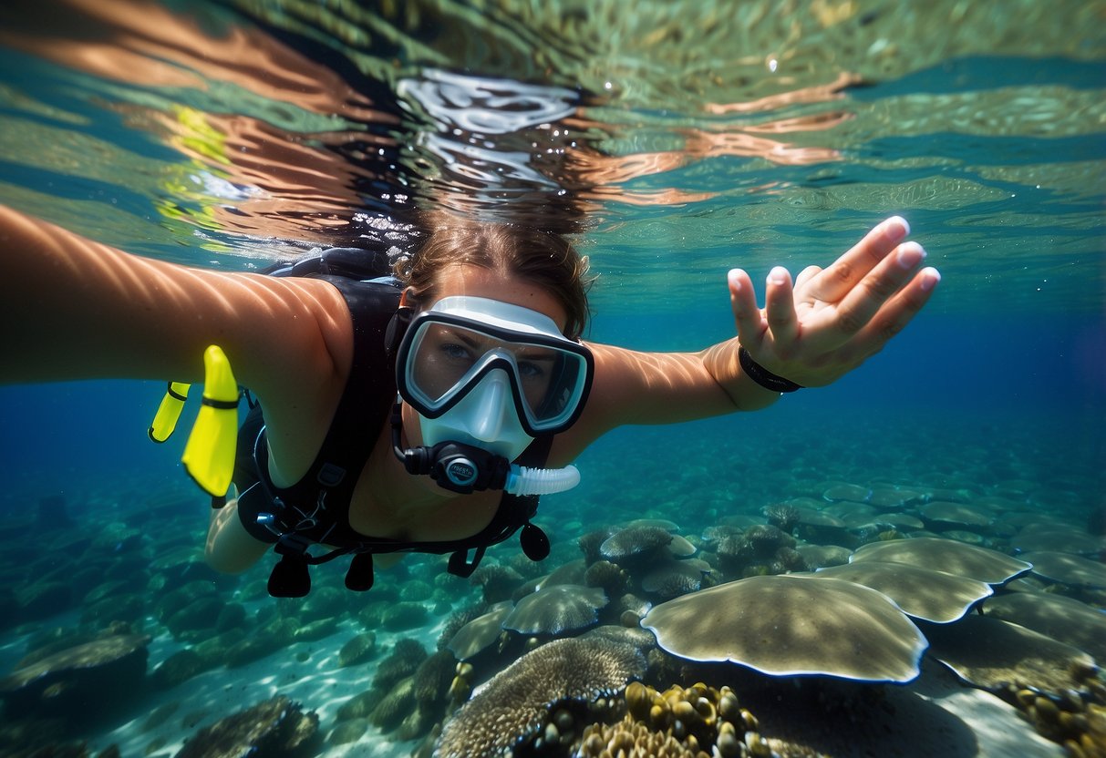
<svg viewBox="0 0 1106 758">
<path fill-rule="evenodd" d="M 261 399 L 273 459 L 294 480 L 348 375 L 353 327 L 337 289 L 139 257 L 0 207 L 0 383 L 198 382 L 209 345 Z"/>
</svg>

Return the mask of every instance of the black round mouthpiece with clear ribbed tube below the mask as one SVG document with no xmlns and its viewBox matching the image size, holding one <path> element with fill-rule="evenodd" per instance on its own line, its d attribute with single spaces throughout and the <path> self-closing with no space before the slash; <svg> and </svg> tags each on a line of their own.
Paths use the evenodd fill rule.
<svg viewBox="0 0 1106 758">
<path fill-rule="evenodd" d="M 392 449 L 409 474 L 426 474 L 450 492 L 468 495 L 483 489 L 503 489 L 509 495 L 552 495 L 580 484 L 576 466 L 532 469 L 511 463 L 502 455 L 463 442 L 404 448 L 401 403 L 392 409 Z"/>
</svg>

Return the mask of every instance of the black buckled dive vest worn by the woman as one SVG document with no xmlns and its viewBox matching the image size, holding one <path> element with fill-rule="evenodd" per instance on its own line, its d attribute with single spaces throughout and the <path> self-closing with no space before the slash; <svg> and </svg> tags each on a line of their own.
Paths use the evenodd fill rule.
<svg viewBox="0 0 1106 758">
<path fill-rule="evenodd" d="M 354 355 L 349 379 L 322 448 L 307 473 L 292 486 L 276 487 L 269 477 L 269 450 L 260 407 L 251 410 L 239 430 L 234 469 L 239 517 L 250 535 L 276 544 L 276 552 L 284 556 L 270 578 L 270 592 L 306 592 L 306 588 L 296 581 L 292 582 L 295 587 L 291 592 L 283 591 L 280 581 L 274 587 L 282 567 L 294 568 L 298 576 L 302 573 L 299 581 L 307 582 L 306 587 L 310 587 L 305 573 L 307 564 L 349 554 L 355 555 L 346 577 L 346 586 L 351 589 L 368 589 L 372 586 L 371 556 L 375 552 L 450 552 L 449 571 L 467 577 L 476 570 L 489 545 L 508 539 L 520 528 L 523 528 L 526 554 L 538 558 L 538 555 L 532 555 L 528 543 L 536 540 L 547 546 L 547 540 L 538 527 L 529 523 L 538 512 L 536 496 L 504 493 L 488 526 L 463 539 L 403 541 L 365 536 L 349 526 L 354 486 L 380 430 L 390 422 L 396 401 L 394 356 L 389 355 L 385 334 L 398 307 L 400 291 L 392 283 L 316 273 L 319 269 L 305 271 L 302 264 L 296 269 L 289 273 L 322 278 L 342 293 L 353 319 Z M 288 274 L 279 272 L 278 275 Z M 552 441 L 552 435 L 535 440 L 520 456 L 519 463 L 544 466 Z M 336 549 L 323 556 L 312 556 L 307 549 L 316 544 Z M 471 559 L 468 555 L 470 550 L 474 551 Z"/>
</svg>

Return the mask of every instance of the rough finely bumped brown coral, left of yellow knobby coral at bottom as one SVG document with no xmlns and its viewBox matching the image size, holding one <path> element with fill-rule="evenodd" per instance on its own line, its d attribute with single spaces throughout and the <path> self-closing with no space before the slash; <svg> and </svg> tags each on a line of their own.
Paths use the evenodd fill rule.
<svg viewBox="0 0 1106 758">
<path fill-rule="evenodd" d="M 439 758 L 507 756 L 539 730 L 550 707 L 591 703 L 645 673 L 633 645 L 603 639 L 554 640 L 526 653 L 488 682 L 446 723 Z"/>
</svg>

